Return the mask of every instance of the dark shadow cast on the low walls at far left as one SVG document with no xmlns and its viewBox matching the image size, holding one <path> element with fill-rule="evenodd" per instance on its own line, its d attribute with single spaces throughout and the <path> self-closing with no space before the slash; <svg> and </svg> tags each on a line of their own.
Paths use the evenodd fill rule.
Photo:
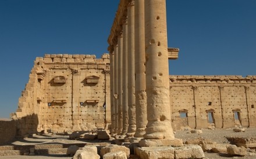
<svg viewBox="0 0 256 159">
<path fill-rule="evenodd" d="M 38 117 L 36 114 L 27 115 L 22 118 L 15 118 L 12 121 L 0 121 L 0 143 L 11 142 L 15 138 L 26 138 L 37 133 Z"/>
</svg>

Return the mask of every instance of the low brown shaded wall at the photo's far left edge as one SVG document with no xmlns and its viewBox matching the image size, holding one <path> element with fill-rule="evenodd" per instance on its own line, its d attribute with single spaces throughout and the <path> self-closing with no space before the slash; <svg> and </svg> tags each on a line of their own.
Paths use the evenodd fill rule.
<svg viewBox="0 0 256 159">
<path fill-rule="evenodd" d="M 0 121 L 0 144 L 15 139 L 16 124 L 15 121 Z"/>
</svg>

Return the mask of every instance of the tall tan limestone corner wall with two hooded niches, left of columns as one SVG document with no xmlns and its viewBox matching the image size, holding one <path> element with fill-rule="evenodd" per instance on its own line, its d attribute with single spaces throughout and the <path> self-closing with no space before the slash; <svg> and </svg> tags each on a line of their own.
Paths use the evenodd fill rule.
<svg viewBox="0 0 256 159">
<path fill-rule="evenodd" d="M 110 123 L 109 55 L 37 57 L 13 119 L 18 134 L 104 129 Z M 22 120 L 23 119 L 23 120 Z"/>
</svg>

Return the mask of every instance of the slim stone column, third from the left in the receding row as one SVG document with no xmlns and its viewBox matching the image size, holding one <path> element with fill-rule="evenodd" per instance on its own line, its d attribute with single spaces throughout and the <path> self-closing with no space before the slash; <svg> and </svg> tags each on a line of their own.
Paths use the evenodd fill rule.
<svg viewBox="0 0 256 159">
<path fill-rule="evenodd" d="M 118 37 L 118 135 L 123 131 L 123 32 Z"/>
</svg>

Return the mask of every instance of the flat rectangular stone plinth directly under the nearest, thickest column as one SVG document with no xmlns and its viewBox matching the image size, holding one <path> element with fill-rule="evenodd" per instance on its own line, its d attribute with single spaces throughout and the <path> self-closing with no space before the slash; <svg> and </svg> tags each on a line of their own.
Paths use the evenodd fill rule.
<svg viewBox="0 0 256 159">
<path fill-rule="evenodd" d="M 141 139 L 138 142 L 140 147 L 157 147 L 157 146 L 183 146 L 182 139 Z"/>
</svg>

